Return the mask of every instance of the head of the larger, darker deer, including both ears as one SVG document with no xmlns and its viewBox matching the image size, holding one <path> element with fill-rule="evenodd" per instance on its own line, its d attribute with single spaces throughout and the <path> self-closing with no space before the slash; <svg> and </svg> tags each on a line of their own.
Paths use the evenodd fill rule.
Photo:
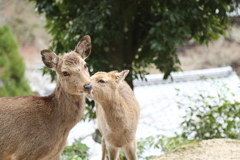
<svg viewBox="0 0 240 160">
<path fill-rule="evenodd" d="M 85 59 L 91 53 L 91 38 L 84 36 L 74 51 L 57 56 L 50 50 L 42 50 L 42 61 L 57 74 L 57 81 L 69 94 L 79 95 L 90 92 L 92 85 Z"/>
</svg>

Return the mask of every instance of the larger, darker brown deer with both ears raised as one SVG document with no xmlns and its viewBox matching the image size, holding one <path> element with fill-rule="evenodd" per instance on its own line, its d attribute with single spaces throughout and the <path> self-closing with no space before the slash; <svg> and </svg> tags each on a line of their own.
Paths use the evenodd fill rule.
<svg viewBox="0 0 240 160">
<path fill-rule="evenodd" d="M 83 115 L 84 92 L 92 90 L 84 61 L 90 52 L 88 35 L 62 56 L 42 50 L 43 63 L 57 75 L 54 92 L 0 98 L 1 160 L 60 160 L 69 131 Z"/>
</svg>

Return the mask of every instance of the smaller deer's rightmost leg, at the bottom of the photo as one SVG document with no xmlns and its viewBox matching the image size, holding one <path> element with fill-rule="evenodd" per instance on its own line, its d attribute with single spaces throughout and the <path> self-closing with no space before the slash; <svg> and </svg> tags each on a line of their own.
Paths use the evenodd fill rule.
<svg viewBox="0 0 240 160">
<path fill-rule="evenodd" d="M 137 143 L 136 140 L 128 143 L 123 147 L 123 151 L 128 160 L 137 160 Z"/>
</svg>

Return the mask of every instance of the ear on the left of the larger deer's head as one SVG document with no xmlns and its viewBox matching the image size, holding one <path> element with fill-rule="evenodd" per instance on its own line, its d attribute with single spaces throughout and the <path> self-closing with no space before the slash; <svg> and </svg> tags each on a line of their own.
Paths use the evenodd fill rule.
<svg viewBox="0 0 240 160">
<path fill-rule="evenodd" d="M 41 55 L 42 55 L 42 61 L 46 67 L 50 69 L 56 68 L 58 56 L 54 52 L 44 49 L 41 51 Z"/>
</svg>

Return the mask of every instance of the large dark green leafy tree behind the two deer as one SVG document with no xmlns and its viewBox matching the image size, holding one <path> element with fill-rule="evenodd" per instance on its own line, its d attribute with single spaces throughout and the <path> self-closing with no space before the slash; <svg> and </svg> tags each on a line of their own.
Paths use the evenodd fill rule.
<svg viewBox="0 0 240 160">
<path fill-rule="evenodd" d="M 45 14 L 57 53 L 89 34 L 92 72 L 130 69 L 127 81 L 155 65 L 167 78 L 180 70 L 176 45 L 207 43 L 225 34 L 238 0 L 29 0 Z"/>
</svg>

